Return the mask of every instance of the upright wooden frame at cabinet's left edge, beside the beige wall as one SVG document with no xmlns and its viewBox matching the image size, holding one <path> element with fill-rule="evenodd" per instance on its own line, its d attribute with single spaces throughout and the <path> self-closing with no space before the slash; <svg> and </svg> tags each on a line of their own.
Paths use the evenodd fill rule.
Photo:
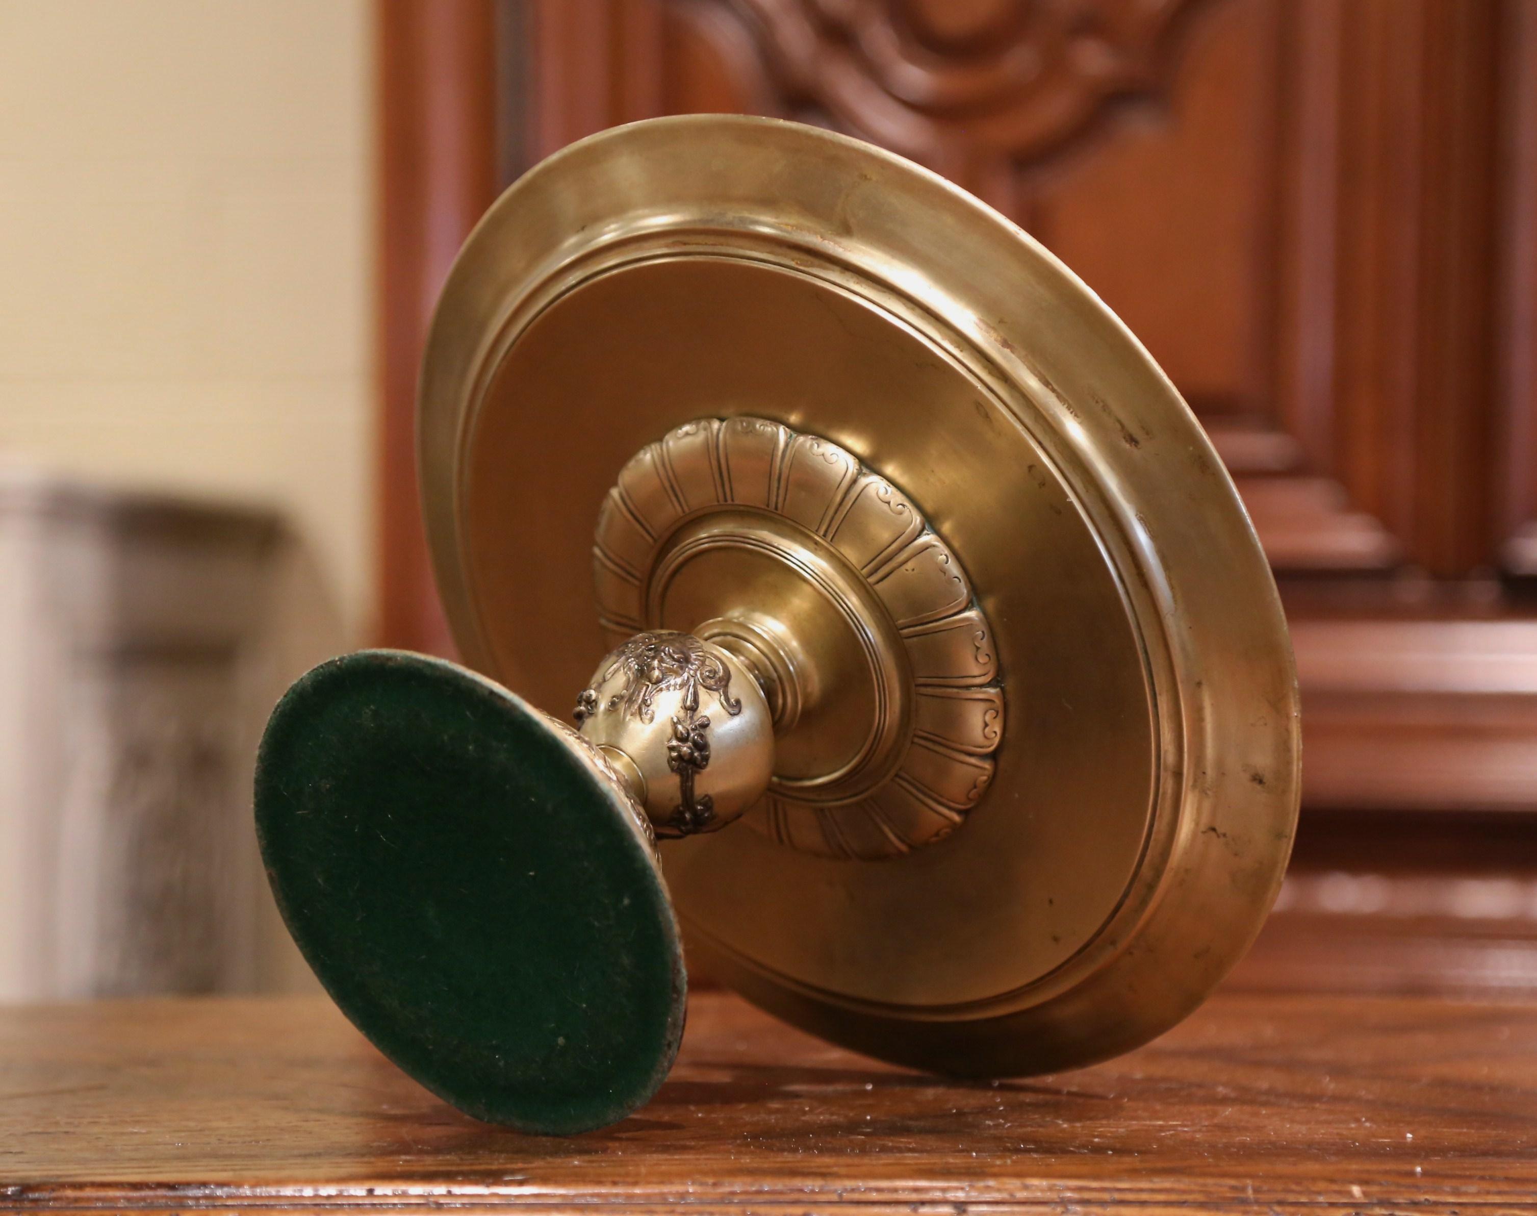
<svg viewBox="0 0 1537 1216">
<path fill-rule="evenodd" d="M 661 112 L 644 0 L 375 0 L 378 584 L 373 641 L 452 655 L 417 483 L 417 378 L 475 221 L 529 164 Z M 541 65 L 553 71 L 539 74 Z M 543 101 L 543 105 L 541 105 Z"/>
</svg>

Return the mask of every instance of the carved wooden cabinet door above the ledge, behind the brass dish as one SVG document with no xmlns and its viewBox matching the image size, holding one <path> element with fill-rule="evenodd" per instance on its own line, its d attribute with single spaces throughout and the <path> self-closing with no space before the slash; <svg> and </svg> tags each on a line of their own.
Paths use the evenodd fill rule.
<svg viewBox="0 0 1537 1216">
<path fill-rule="evenodd" d="M 882 143 L 1016 218 L 1127 320 L 1202 415 L 1279 569 L 1499 561 L 1496 63 L 1502 25 L 1526 29 L 1531 0 L 536 12 L 530 152 L 690 111 Z M 1522 198 L 1512 224 L 1529 224 Z M 1509 291 L 1529 295 L 1532 278 Z M 1506 478 L 1511 510 L 1537 493 L 1525 467 Z"/>
</svg>

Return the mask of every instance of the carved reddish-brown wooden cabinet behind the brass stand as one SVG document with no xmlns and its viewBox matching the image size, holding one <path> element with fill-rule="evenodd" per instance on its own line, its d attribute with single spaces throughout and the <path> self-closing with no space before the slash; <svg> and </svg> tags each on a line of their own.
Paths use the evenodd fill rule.
<svg viewBox="0 0 1537 1216">
<path fill-rule="evenodd" d="M 1537 0 L 381 0 L 381 623 L 437 284 L 496 189 L 659 114 L 928 164 L 1211 432 L 1303 689 L 1294 878 L 1237 982 L 1537 982 Z M 1128 437 L 1134 441 L 1134 437 Z"/>
</svg>

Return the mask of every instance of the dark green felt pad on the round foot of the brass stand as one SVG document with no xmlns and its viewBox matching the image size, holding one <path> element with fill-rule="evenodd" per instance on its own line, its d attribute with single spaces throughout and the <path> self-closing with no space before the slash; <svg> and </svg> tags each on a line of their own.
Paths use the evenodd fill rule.
<svg viewBox="0 0 1537 1216">
<path fill-rule="evenodd" d="M 566 1135 L 661 1085 L 686 987 L 661 872 L 521 699 L 421 655 L 324 663 L 272 712 L 255 807 L 304 958 L 429 1090 Z"/>
</svg>

